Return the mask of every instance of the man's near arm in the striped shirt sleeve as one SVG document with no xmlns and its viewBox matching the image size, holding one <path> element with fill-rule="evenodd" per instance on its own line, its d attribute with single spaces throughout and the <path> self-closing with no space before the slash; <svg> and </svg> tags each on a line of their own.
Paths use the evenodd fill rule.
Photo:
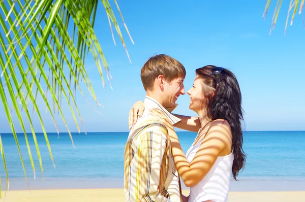
<svg viewBox="0 0 305 202">
<path fill-rule="evenodd" d="M 134 166 L 134 198 L 135 201 L 169 201 L 159 193 L 160 168 L 166 151 L 166 135 L 158 124 L 147 126 L 140 134 Z M 167 131 L 166 131 L 167 132 Z M 130 194 L 133 194 L 131 192 Z"/>
</svg>

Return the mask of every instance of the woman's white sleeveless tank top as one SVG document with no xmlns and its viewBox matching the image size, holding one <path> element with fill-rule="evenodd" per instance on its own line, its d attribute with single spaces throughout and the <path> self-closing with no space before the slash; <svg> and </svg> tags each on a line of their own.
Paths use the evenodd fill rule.
<svg viewBox="0 0 305 202">
<path fill-rule="evenodd" d="M 189 162 L 192 162 L 201 142 L 195 146 L 193 143 L 187 151 L 186 156 Z M 214 202 L 228 201 L 233 160 L 234 155 L 232 153 L 226 156 L 219 156 L 206 176 L 197 185 L 191 187 L 189 202 L 205 200 L 212 200 Z"/>
</svg>

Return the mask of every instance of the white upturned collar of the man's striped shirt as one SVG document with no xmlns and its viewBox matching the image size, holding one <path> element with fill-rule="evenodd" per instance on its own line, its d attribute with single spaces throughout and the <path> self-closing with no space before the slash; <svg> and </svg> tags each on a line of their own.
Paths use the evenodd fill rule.
<svg viewBox="0 0 305 202">
<path fill-rule="evenodd" d="M 164 108 L 160 103 L 158 103 L 156 99 L 146 95 L 144 99 L 144 105 L 145 105 L 145 109 L 148 107 L 149 109 L 157 108 L 162 110 L 164 114 L 167 116 L 167 118 L 170 120 L 171 124 L 175 124 L 181 121 L 181 119 L 171 114 L 171 112 L 178 106 L 178 104 L 176 104 L 176 106 L 174 107 Z"/>
</svg>

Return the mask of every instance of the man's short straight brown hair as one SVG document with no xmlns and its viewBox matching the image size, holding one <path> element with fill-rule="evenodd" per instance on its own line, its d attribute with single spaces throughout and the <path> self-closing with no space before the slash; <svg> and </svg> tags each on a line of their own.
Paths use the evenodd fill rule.
<svg viewBox="0 0 305 202">
<path fill-rule="evenodd" d="M 178 78 L 186 77 L 186 69 L 178 60 L 165 55 L 150 57 L 141 69 L 141 80 L 145 91 L 154 90 L 154 81 L 159 75 L 163 75 L 167 82 Z"/>
</svg>

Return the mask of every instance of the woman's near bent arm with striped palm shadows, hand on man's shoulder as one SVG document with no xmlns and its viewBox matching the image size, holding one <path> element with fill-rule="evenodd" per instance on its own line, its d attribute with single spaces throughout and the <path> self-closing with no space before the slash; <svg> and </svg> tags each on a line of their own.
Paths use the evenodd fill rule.
<svg viewBox="0 0 305 202">
<path fill-rule="evenodd" d="M 198 182 L 200 182 L 209 172 L 218 156 L 220 156 L 225 149 L 231 150 L 231 127 L 227 121 L 218 119 L 211 123 L 194 159 L 189 162 L 167 116 L 158 109 L 151 110 L 150 113 L 153 116 L 160 117 L 162 123 L 166 125 L 177 171 L 187 187 L 198 184 Z"/>
</svg>

